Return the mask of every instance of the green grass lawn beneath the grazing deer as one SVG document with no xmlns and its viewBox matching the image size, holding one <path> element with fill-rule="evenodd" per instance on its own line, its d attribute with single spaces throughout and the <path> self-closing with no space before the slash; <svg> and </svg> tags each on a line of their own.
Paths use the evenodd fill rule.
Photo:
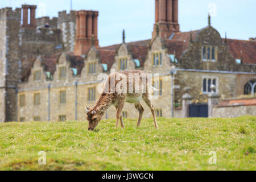
<svg viewBox="0 0 256 182">
<path fill-rule="evenodd" d="M 256 117 L 0 124 L 1 170 L 256 170 Z M 39 151 L 46 165 L 39 165 Z M 209 164 L 210 151 L 216 165 Z"/>
</svg>

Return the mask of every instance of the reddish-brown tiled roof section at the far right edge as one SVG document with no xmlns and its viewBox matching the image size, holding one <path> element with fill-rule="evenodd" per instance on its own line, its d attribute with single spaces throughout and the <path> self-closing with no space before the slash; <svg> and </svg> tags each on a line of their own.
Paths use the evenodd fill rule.
<svg viewBox="0 0 256 182">
<path fill-rule="evenodd" d="M 223 39 L 224 41 L 224 39 Z M 227 39 L 229 52 L 242 63 L 256 64 L 256 42 L 251 40 Z"/>
</svg>

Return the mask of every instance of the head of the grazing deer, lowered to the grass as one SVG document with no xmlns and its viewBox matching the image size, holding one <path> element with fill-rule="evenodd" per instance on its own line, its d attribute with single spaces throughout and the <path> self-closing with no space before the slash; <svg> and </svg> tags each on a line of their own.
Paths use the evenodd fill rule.
<svg viewBox="0 0 256 182">
<path fill-rule="evenodd" d="M 85 107 L 88 121 L 88 130 L 94 130 L 98 123 L 101 121 L 102 115 L 98 113 L 96 109 L 90 109 L 89 107 Z"/>
</svg>

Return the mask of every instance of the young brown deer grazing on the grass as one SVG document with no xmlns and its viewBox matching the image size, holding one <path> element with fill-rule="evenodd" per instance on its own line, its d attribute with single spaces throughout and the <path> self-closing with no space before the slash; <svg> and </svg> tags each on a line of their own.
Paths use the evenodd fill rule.
<svg viewBox="0 0 256 182">
<path fill-rule="evenodd" d="M 143 80 L 143 77 L 146 78 L 146 82 L 145 79 Z M 110 75 L 104 84 L 104 91 L 101 93 L 96 104 L 92 108 L 85 107 L 87 113 L 86 119 L 89 122 L 88 130 L 94 130 L 96 128 L 105 111 L 111 105 L 114 105 L 115 109 L 117 109 L 115 126 L 118 127 L 120 119 L 121 126 L 125 127 L 121 115 L 125 102 L 133 103 L 138 110 L 139 117 L 137 126 L 139 127 L 144 112 L 144 108 L 141 105 L 142 99 L 146 105 L 150 107 L 154 118 L 155 128 L 158 129 L 154 106 L 151 104 L 150 100 L 150 91 L 155 88 L 152 87 L 151 81 L 149 80 L 148 75 L 139 70 L 123 71 Z M 126 86 L 123 85 L 124 83 Z"/>
</svg>

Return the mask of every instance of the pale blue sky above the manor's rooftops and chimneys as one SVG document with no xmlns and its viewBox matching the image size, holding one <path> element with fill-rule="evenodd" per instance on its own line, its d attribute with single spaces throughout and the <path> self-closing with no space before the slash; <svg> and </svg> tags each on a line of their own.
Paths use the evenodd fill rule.
<svg viewBox="0 0 256 182">
<path fill-rule="evenodd" d="M 56 16 L 59 11 L 71 10 L 71 0 L 0 0 L 0 8 L 38 5 L 36 18 Z M 256 37 L 255 0 L 179 0 L 180 31 L 199 30 L 212 26 L 222 38 L 248 40 Z M 100 46 L 150 39 L 155 20 L 155 0 L 72 0 L 72 10 L 97 10 Z"/>
</svg>

